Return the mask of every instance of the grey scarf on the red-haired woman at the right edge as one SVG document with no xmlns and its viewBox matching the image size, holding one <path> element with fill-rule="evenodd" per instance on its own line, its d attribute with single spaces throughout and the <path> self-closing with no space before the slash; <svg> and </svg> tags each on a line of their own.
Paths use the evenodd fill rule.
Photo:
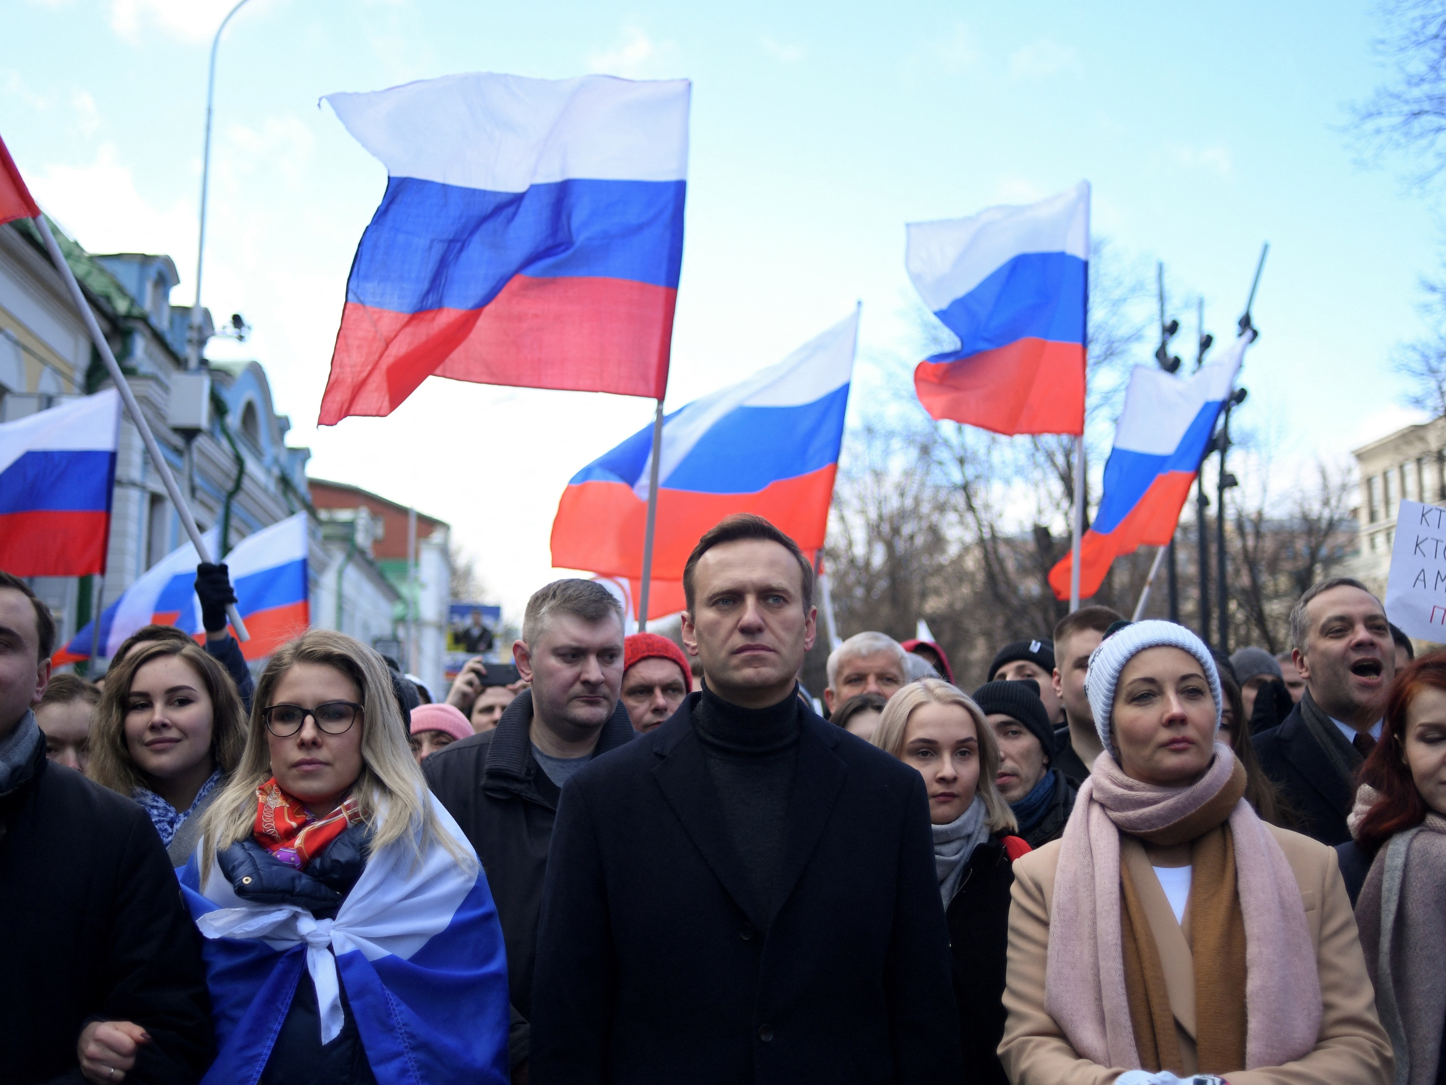
<svg viewBox="0 0 1446 1085">
<path fill-rule="evenodd" d="M 1392 836 L 1356 903 L 1366 971 L 1395 1049 L 1395 1085 L 1432 1085 L 1446 1017 L 1446 819 Z"/>
</svg>

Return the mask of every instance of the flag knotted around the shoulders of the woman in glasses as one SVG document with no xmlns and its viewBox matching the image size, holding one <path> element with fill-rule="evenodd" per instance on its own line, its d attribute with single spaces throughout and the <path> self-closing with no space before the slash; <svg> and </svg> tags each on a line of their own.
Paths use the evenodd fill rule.
<svg viewBox="0 0 1446 1085">
<path fill-rule="evenodd" d="M 476 854 L 431 794 L 438 827 Z M 335 919 L 295 906 L 249 904 L 197 856 L 182 895 L 205 936 L 218 1055 L 202 1085 L 257 1081 L 291 1008 L 301 969 L 317 990 L 322 1042 L 341 1030 L 340 990 L 377 1085 L 506 1085 L 508 962 L 480 865 L 411 839 L 370 855 Z M 330 1036 L 328 1036 L 330 1033 Z"/>
</svg>

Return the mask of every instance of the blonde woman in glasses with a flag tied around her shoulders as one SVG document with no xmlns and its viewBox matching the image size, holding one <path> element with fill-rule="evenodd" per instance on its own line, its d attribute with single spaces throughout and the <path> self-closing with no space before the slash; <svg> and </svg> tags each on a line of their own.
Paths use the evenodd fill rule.
<svg viewBox="0 0 1446 1085">
<path fill-rule="evenodd" d="M 207 939 L 207 1081 L 508 1081 L 492 894 L 366 645 L 312 629 L 272 655 L 181 882 Z"/>
</svg>

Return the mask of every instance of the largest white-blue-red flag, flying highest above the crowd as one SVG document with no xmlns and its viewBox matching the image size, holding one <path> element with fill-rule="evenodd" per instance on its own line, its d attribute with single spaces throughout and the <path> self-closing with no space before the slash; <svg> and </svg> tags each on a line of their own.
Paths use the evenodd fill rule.
<svg viewBox="0 0 1446 1085">
<path fill-rule="evenodd" d="M 687 80 L 448 75 L 331 94 L 388 168 L 321 424 L 431 375 L 661 399 L 683 265 Z"/>
</svg>

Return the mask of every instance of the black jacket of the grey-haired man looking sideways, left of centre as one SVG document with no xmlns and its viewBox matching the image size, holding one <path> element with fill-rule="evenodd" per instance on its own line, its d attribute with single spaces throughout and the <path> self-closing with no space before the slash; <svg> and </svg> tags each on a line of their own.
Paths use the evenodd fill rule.
<svg viewBox="0 0 1446 1085">
<path fill-rule="evenodd" d="M 523 690 L 493 731 L 453 742 L 422 762 L 427 784 L 476 849 L 497 906 L 508 945 L 508 1046 L 513 1066 L 528 1058 L 532 963 L 560 796 L 558 786 L 532 757 L 531 728 L 532 692 Z M 626 745 L 633 733 L 628 709 L 619 702 L 603 725 L 596 752 Z"/>
</svg>

